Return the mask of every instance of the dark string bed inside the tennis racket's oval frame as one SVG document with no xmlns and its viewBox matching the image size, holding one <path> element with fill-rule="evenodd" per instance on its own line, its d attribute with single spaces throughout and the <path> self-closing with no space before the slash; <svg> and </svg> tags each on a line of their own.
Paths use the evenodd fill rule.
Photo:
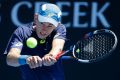
<svg viewBox="0 0 120 80">
<path fill-rule="evenodd" d="M 97 59 L 108 54 L 113 45 L 112 35 L 96 34 L 76 44 L 75 57 L 83 60 Z"/>
</svg>

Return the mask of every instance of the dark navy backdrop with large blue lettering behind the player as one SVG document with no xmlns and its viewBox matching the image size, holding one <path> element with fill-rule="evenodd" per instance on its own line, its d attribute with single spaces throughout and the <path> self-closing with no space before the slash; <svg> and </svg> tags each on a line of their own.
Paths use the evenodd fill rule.
<svg viewBox="0 0 120 80">
<path fill-rule="evenodd" d="M 19 69 L 7 66 L 3 53 L 13 31 L 33 21 L 42 2 L 61 8 L 70 44 L 96 29 L 110 29 L 120 39 L 119 0 L 0 0 L 0 80 L 20 80 Z M 120 42 L 113 54 L 100 62 L 63 60 L 63 65 L 66 80 L 120 80 Z"/>
</svg>

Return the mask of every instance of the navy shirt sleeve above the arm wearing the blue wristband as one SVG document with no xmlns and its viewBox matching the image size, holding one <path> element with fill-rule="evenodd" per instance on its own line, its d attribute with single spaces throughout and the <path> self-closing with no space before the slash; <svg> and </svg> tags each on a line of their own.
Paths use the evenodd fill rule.
<svg viewBox="0 0 120 80">
<path fill-rule="evenodd" d="M 14 33 L 12 34 L 8 45 L 5 49 L 4 54 L 7 54 L 11 48 L 19 48 L 22 49 L 23 47 L 23 36 L 22 36 L 22 29 L 17 28 Z"/>
</svg>

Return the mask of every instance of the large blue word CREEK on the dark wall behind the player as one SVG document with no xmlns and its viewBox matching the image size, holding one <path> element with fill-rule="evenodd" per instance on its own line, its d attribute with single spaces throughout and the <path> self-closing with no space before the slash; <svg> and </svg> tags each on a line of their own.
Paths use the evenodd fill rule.
<svg viewBox="0 0 120 80">
<path fill-rule="evenodd" d="M 43 2 L 35 2 L 34 12 L 39 12 L 40 5 Z M 103 6 L 100 6 L 97 2 L 69 2 L 69 1 L 58 1 L 56 4 L 62 10 L 62 23 L 65 24 L 67 28 L 97 28 L 98 23 L 101 22 L 103 27 L 109 28 L 109 22 L 103 12 L 107 11 L 110 6 L 110 2 L 106 2 Z M 11 11 L 11 20 L 15 26 L 24 25 L 19 20 L 18 12 L 20 12 L 20 7 L 23 5 L 32 9 L 32 3 L 29 1 L 21 1 L 16 3 Z M 85 8 L 85 9 L 84 9 Z M 64 11 L 63 11 L 64 10 Z M 71 13 L 72 12 L 72 13 Z M 65 17 L 65 18 L 64 18 Z M 69 19 L 67 19 L 67 17 Z M 1 18 L 1 16 L 0 16 Z M 32 18 L 32 17 L 31 17 Z M 64 19 L 64 20 L 63 20 Z M 99 19 L 99 20 L 98 20 Z M 99 22 L 98 22 L 99 21 Z"/>
</svg>

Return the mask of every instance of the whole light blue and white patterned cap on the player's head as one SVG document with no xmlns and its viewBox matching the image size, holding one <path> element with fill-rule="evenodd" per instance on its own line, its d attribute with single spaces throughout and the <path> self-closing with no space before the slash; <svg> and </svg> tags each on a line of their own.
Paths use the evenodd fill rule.
<svg viewBox="0 0 120 80">
<path fill-rule="evenodd" d="M 51 3 L 43 4 L 40 8 L 38 20 L 39 22 L 49 22 L 55 27 L 60 22 L 62 12 L 58 6 Z"/>
</svg>

